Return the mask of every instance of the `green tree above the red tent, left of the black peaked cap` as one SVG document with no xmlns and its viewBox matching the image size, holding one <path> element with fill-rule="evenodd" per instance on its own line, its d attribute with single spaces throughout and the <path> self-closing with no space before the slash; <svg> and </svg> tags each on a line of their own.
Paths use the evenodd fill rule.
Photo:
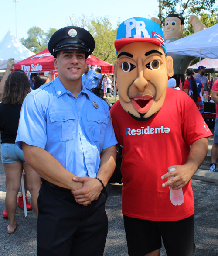
<svg viewBox="0 0 218 256">
<path fill-rule="evenodd" d="M 20 42 L 32 52 L 41 52 L 48 47 L 49 38 L 55 31 L 55 28 L 49 28 L 45 33 L 41 28 L 34 26 L 27 31 L 28 37 L 21 38 Z"/>
</svg>

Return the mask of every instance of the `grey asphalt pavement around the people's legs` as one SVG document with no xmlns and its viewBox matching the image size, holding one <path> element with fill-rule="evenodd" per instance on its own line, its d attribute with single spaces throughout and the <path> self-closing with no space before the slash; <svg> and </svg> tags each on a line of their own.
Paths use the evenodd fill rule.
<svg viewBox="0 0 218 256">
<path fill-rule="evenodd" d="M 211 141 L 209 141 L 208 157 L 201 170 L 193 180 L 195 198 L 195 256 L 218 256 L 218 173 L 209 172 Z M 211 182 L 208 182 L 210 180 Z M 109 232 L 104 256 L 127 256 L 126 238 L 121 213 L 121 185 L 108 185 L 108 200 L 106 212 L 109 219 Z M 7 234 L 7 219 L 1 218 L 4 210 L 5 176 L 0 163 L 0 256 L 36 256 L 36 225 L 34 211 L 24 211 L 17 208 L 17 230 Z M 30 195 L 27 194 L 30 198 Z M 31 201 L 31 198 L 29 199 Z M 177 232 L 177 231 L 175 231 Z M 179 232 L 179 231 L 178 231 Z M 165 256 L 161 250 L 161 256 Z"/>
</svg>

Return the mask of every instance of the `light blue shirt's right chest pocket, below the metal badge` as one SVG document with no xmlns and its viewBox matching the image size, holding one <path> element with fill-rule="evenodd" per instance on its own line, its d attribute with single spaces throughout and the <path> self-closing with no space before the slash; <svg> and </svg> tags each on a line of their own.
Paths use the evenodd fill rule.
<svg viewBox="0 0 218 256">
<path fill-rule="evenodd" d="M 107 125 L 106 114 L 102 111 L 87 111 L 86 116 L 89 137 L 93 141 L 101 142 Z"/>
</svg>

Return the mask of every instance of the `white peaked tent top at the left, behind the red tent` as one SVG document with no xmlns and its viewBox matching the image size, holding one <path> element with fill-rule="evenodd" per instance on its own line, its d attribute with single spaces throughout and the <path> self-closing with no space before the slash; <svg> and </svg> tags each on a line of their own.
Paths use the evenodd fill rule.
<svg viewBox="0 0 218 256">
<path fill-rule="evenodd" d="M 15 62 L 18 62 L 32 55 L 35 53 L 28 50 L 8 31 L 0 42 L 0 69 L 7 68 L 9 58 L 14 58 Z"/>
</svg>

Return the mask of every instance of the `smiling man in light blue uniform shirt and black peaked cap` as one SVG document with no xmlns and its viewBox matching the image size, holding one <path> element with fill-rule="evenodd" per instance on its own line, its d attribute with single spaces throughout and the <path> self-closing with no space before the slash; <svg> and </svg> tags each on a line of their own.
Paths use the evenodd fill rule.
<svg viewBox="0 0 218 256">
<path fill-rule="evenodd" d="M 56 31 L 48 49 L 58 77 L 32 91 L 22 106 L 16 143 L 42 177 L 38 256 L 103 255 L 105 186 L 115 168 L 117 141 L 107 104 L 82 84 L 94 48 L 83 28 Z"/>
</svg>

